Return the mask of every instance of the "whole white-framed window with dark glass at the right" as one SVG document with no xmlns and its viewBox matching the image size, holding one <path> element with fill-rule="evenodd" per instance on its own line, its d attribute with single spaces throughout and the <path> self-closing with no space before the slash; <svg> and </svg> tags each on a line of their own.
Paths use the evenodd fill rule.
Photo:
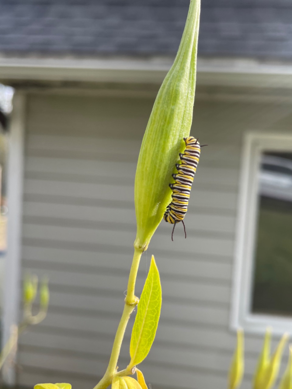
<svg viewBox="0 0 292 389">
<path fill-rule="evenodd" d="M 292 328 L 292 135 L 248 134 L 241 166 L 232 327 Z"/>
</svg>

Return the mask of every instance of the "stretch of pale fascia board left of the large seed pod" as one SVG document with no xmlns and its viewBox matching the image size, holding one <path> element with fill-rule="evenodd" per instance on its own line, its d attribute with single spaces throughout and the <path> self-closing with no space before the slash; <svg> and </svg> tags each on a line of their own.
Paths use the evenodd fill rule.
<svg viewBox="0 0 292 389">
<path fill-rule="evenodd" d="M 160 83 L 172 60 L 1 58 L 0 80 Z"/>
</svg>

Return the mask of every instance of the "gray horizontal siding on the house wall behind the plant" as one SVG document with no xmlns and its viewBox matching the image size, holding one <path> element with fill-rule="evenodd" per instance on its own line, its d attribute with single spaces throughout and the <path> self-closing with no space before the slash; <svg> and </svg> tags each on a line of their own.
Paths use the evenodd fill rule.
<svg viewBox="0 0 292 389">
<path fill-rule="evenodd" d="M 25 149 L 23 272 L 47 274 L 47 318 L 21 336 L 18 383 L 91 388 L 106 369 L 123 309 L 135 238 L 134 174 L 153 100 L 30 95 Z M 241 142 L 245 130 L 288 131 L 290 106 L 201 101 L 193 135 L 205 147 L 186 216 L 188 238 L 162 223 L 143 254 L 137 294 L 155 255 L 163 304 L 142 363 L 153 388 L 223 389 Z M 120 357 L 127 365 L 130 320 Z M 246 336 L 250 387 L 262 338 Z"/>
</svg>

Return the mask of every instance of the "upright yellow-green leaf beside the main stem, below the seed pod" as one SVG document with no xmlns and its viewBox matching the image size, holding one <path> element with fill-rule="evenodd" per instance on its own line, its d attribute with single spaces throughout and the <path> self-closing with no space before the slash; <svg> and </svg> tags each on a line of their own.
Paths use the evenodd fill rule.
<svg viewBox="0 0 292 389">
<path fill-rule="evenodd" d="M 159 272 L 154 256 L 152 256 L 149 273 L 138 303 L 137 315 L 132 330 L 130 367 L 141 363 L 151 349 L 158 326 L 161 301 Z"/>
</svg>

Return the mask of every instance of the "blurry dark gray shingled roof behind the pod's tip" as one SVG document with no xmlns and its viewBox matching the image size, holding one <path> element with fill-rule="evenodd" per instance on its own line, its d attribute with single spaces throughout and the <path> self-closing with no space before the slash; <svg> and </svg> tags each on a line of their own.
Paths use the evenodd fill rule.
<svg viewBox="0 0 292 389">
<path fill-rule="evenodd" d="M 0 54 L 173 55 L 189 0 L 2 0 Z M 292 58 L 290 0 L 202 0 L 199 55 Z"/>
</svg>

